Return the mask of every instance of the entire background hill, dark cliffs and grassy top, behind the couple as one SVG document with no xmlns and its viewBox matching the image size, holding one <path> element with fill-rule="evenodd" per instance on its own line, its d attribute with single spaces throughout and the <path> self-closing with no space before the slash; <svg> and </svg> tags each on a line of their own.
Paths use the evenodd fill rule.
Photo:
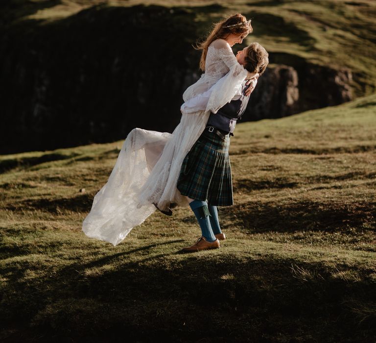
<svg viewBox="0 0 376 343">
<path fill-rule="evenodd" d="M 172 131 L 182 93 L 200 75 L 191 44 L 234 12 L 252 18 L 244 44 L 258 41 L 273 63 L 245 120 L 375 91 L 372 1 L 96 3 L 1 2 L 1 153 L 109 142 L 137 126 Z"/>
</svg>

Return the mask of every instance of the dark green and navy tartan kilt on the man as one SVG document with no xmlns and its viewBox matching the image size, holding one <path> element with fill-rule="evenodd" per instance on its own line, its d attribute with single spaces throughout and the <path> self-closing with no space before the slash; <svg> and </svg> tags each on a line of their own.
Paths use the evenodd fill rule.
<svg viewBox="0 0 376 343">
<path fill-rule="evenodd" d="M 223 140 L 205 129 L 183 161 L 179 192 L 213 206 L 233 205 L 229 147 L 230 135 Z"/>
</svg>

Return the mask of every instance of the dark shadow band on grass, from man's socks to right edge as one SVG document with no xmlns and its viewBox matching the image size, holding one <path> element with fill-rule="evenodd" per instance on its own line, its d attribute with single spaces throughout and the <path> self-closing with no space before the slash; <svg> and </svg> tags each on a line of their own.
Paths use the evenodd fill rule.
<svg viewBox="0 0 376 343">
<path fill-rule="evenodd" d="M 293 232 L 300 230 L 337 231 L 350 228 L 376 227 L 374 202 L 292 202 L 276 203 L 249 202 L 235 206 L 235 209 L 223 208 L 228 216 L 236 213 L 238 221 L 250 232 Z M 240 222 L 239 222 L 240 221 Z"/>
</svg>

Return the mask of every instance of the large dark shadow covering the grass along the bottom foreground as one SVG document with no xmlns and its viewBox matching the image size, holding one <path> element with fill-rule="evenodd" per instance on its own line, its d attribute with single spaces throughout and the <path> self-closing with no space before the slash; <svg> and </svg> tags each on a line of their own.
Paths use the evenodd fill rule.
<svg viewBox="0 0 376 343">
<path fill-rule="evenodd" d="M 270 256 L 137 259 L 157 245 L 73 263 L 54 277 L 26 280 L 19 269 L 2 290 L 0 319 L 9 330 L 3 342 L 41 335 L 118 342 L 124 332 L 138 342 L 270 342 L 281 335 L 285 342 L 362 342 L 376 333 L 375 316 L 361 312 L 376 302 L 375 284 L 367 281 L 372 270 L 355 270 L 358 281 L 349 282 L 325 265 Z M 104 266 L 109 269 L 85 272 Z"/>
</svg>

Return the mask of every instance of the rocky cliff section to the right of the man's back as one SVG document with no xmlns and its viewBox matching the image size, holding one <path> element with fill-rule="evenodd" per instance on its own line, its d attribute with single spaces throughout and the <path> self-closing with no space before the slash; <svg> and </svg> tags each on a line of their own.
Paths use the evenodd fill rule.
<svg viewBox="0 0 376 343">
<path fill-rule="evenodd" d="M 352 99 L 351 71 L 309 63 L 296 68 L 286 65 L 268 67 L 258 80 L 244 118 L 281 118 Z"/>
</svg>

